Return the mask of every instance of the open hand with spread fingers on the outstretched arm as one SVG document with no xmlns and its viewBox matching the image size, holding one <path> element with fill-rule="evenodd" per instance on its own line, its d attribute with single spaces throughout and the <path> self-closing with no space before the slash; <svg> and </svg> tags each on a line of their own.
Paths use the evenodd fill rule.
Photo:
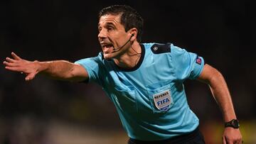
<svg viewBox="0 0 256 144">
<path fill-rule="evenodd" d="M 4 61 L 4 65 L 6 66 L 6 70 L 11 70 L 14 72 L 21 72 L 21 74 L 26 74 L 26 81 L 32 80 L 36 74 L 38 73 L 38 61 L 28 61 L 23 60 L 21 57 L 18 57 L 14 52 L 11 52 L 10 57 L 6 57 L 6 61 Z"/>
</svg>

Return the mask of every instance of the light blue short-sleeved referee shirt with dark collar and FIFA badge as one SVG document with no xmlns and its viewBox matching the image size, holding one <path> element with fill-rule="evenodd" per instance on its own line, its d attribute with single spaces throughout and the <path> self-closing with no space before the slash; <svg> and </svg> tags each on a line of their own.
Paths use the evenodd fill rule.
<svg viewBox="0 0 256 144">
<path fill-rule="evenodd" d="M 195 130 L 199 121 L 188 106 L 183 82 L 196 79 L 204 61 L 171 43 L 142 43 L 138 64 L 129 70 L 97 57 L 78 60 L 113 101 L 124 130 L 137 140 L 164 140 Z"/>
</svg>

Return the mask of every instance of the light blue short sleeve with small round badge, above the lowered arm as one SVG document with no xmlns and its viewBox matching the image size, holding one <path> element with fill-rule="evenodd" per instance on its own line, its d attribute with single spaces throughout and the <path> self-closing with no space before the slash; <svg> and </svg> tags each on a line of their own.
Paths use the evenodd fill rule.
<svg viewBox="0 0 256 144">
<path fill-rule="evenodd" d="M 203 71 L 203 57 L 187 52 L 171 44 L 171 59 L 174 63 L 176 77 L 180 80 L 196 79 Z"/>
</svg>

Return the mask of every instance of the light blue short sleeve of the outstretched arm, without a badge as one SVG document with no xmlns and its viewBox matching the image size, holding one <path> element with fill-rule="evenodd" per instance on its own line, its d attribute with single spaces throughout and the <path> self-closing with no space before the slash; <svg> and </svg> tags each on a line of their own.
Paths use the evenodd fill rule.
<svg viewBox="0 0 256 144">
<path fill-rule="evenodd" d="M 88 57 L 75 62 L 76 64 L 82 65 L 88 73 L 88 82 L 96 82 L 102 85 L 102 55 L 99 54 L 97 57 Z"/>
</svg>

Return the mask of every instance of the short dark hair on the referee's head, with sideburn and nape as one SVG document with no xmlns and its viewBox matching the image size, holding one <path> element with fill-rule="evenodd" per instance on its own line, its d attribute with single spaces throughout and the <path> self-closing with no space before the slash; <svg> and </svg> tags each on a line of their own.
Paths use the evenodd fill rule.
<svg viewBox="0 0 256 144">
<path fill-rule="evenodd" d="M 140 43 L 142 40 L 143 19 L 142 16 L 135 11 L 131 6 L 127 5 L 114 5 L 108 6 L 102 9 L 99 13 L 99 18 L 106 14 L 121 16 L 121 24 L 124 26 L 124 30 L 127 32 L 131 28 L 137 28 L 137 40 Z"/>
</svg>

